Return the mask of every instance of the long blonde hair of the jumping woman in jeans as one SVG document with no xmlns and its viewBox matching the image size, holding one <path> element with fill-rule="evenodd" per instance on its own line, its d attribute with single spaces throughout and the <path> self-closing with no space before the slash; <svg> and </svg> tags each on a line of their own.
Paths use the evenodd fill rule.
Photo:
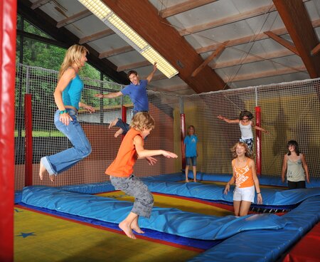
<svg viewBox="0 0 320 262">
<path fill-rule="evenodd" d="M 73 45 L 68 48 L 67 53 L 65 53 L 63 63 L 60 66 L 58 80 L 60 79 L 61 75 L 65 73 L 65 70 L 72 66 L 73 63 L 75 63 L 79 69 L 81 68 L 81 58 L 83 53 L 89 53 L 85 46 Z"/>
</svg>

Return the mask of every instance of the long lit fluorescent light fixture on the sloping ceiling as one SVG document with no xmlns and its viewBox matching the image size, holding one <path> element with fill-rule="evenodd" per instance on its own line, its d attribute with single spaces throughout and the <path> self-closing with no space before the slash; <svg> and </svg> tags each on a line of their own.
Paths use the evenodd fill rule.
<svg viewBox="0 0 320 262">
<path fill-rule="evenodd" d="M 134 49 L 146 58 L 151 64 L 156 62 L 156 68 L 158 68 L 161 73 L 166 75 L 167 78 L 172 78 L 174 75 L 178 74 L 178 70 L 171 66 L 171 64 L 166 61 L 149 43 L 146 43 L 144 39 L 139 36 L 127 23 L 124 23 L 114 12 L 105 5 L 100 0 L 78 0 L 87 9 L 89 9 L 92 14 L 97 16 L 102 22 L 104 22 L 108 27 L 117 33 L 124 41 L 129 43 Z"/>
</svg>

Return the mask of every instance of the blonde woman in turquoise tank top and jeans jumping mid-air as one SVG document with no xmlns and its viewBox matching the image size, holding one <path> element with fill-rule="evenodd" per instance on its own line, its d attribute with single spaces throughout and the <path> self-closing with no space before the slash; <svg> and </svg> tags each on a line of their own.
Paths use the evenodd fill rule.
<svg viewBox="0 0 320 262">
<path fill-rule="evenodd" d="M 90 142 L 77 121 L 79 107 L 95 112 L 94 108 L 80 102 L 83 82 L 78 72 L 85 66 L 87 53 L 89 53 L 87 48 L 79 45 L 70 46 L 65 53 L 58 75 L 58 85 L 54 92 L 55 104 L 58 107 L 54 121 L 55 127 L 68 137 L 73 147 L 41 158 L 39 170 L 41 180 L 48 172 L 51 182 L 54 182 L 56 175 L 73 167 L 91 152 Z"/>
</svg>

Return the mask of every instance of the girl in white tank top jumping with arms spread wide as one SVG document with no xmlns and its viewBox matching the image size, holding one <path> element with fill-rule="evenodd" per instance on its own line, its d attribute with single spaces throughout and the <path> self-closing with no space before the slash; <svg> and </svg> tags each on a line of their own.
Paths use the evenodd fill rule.
<svg viewBox="0 0 320 262">
<path fill-rule="evenodd" d="M 255 130 L 261 130 L 262 132 L 269 134 L 267 130 L 265 130 L 262 127 L 257 127 L 251 121 L 253 118 L 252 112 L 249 112 L 247 110 L 240 112 L 239 119 L 230 120 L 226 117 L 223 117 L 222 115 L 218 115 L 218 118 L 228 123 L 239 123 L 240 131 L 241 131 L 241 138 L 239 141 L 245 142 L 249 147 L 250 152 L 253 151 L 252 127 L 255 128 Z"/>
</svg>

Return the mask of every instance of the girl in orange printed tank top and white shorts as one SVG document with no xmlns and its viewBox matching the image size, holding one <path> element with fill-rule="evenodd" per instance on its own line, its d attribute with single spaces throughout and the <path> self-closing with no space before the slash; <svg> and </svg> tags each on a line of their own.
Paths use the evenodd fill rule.
<svg viewBox="0 0 320 262">
<path fill-rule="evenodd" d="M 235 216 L 247 216 L 251 203 L 255 199 L 257 191 L 257 204 L 262 204 L 262 196 L 255 170 L 255 161 L 252 159 L 249 147 L 245 142 L 238 142 L 233 149 L 233 177 L 225 185 L 225 194 L 230 190 L 230 184 L 235 182 L 233 192 L 233 208 Z"/>
</svg>

